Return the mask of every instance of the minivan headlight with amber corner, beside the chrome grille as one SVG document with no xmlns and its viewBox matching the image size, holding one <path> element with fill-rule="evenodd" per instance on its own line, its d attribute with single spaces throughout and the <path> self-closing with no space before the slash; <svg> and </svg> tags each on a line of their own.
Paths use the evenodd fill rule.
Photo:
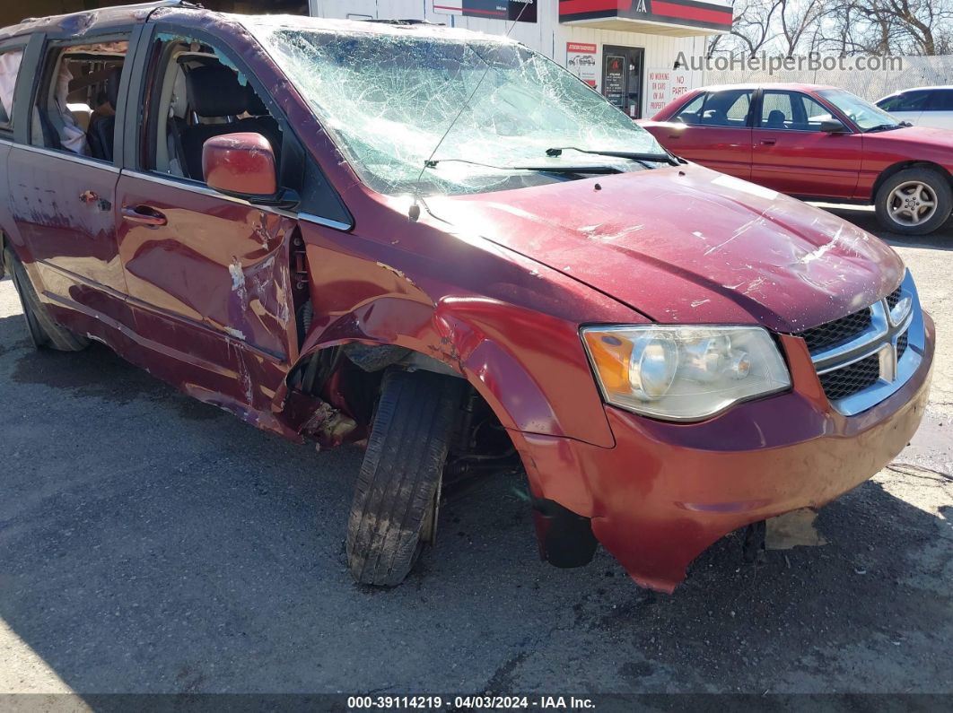
<svg viewBox="0 0 953 713">
<path fill-rule="evenodd" d="M 605 400 L 672 421 L 781 391 L 791 377 L 762 327 L 584 327 Z"/>
</svg>

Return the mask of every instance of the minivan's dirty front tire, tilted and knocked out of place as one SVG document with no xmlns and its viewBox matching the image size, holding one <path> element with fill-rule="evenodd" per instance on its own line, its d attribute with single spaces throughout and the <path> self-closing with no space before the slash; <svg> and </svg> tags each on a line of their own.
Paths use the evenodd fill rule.
<svg viewBox="0 0 953 713">
<path fill-rule="evenodd" d="M 436 512 L 465 382 L 428 371 L 391 371 L 380 401 L 348 522 L 348 566 L 357 582 L 403 582 Z"/>
</svg>

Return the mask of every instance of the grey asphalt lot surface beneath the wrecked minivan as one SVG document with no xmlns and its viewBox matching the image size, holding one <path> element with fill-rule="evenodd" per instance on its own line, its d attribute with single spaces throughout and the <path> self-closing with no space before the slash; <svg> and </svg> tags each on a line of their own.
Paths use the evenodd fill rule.
<svg viewBox="0 0 953 713">
<path fill-rule="evenodd" d="M 953 691 L 951 233 L 880 233 L 938 327 L 911 445 L 821 511 L 826 545 L 744 564 L 726 538 L 671 597 L 604 552 L 540 563 L 506 475 L 451 494 L 405 584 L 358 587 L 359 449 L 286 443 L 105 347 L 35 352 L 8 278 L 0 692 Z"/>
</svg>

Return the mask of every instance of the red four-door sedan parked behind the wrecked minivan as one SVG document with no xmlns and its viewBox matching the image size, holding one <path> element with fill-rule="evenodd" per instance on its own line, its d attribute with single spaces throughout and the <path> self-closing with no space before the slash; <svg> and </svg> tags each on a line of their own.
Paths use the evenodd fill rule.
<svg viewBox="0 0 953 713">
<path fill-rule="evenodd" d="M 679 156 L 765 188 L 873 204 L 895 232 L 932 232 L 953 208 L 953 131 L 909 126 L 843 89 L 703 87 L 639 123 Z"/>
</svg>

